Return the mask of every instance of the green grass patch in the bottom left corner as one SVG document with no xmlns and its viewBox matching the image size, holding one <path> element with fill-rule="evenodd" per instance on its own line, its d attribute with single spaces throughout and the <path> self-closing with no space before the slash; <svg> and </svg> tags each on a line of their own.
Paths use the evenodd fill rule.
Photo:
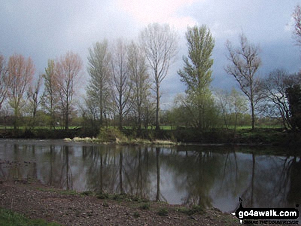
<svg viewBox="0 0 301 226">
<path fill-rule="evenodd" d="M 0 225 L 5 226 L 59 226 L 55 222 L 48 223 L 42 219 L 29 219 L 23 214 L 18 214 L 11 210 L 0 208 Z"/>
</svg>

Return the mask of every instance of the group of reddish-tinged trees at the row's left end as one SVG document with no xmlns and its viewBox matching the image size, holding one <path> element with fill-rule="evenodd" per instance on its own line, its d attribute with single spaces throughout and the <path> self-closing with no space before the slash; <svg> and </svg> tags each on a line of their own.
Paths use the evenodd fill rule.
<svg viewBox="0 0 301 226">
<path fill-rule="evenodd" d="M 46 114 L 52 118 L 52 126 L 55 126 L 55 116 L 59 113 L 68 128 L 77 85 L 75 81 L 82 75 L 82 68 L 79 55 L 68 52 L 56 60 L 49 60 L 45 74 L 34 79 L 35 66 L 30 57 L 26 59 L 23 55 L 14 54 L 6 63 L 5 58 L 0 56 L 0 110 L 9 114 L 8 107 L 12 109 L 13 126 L 16 129 L 21 125 L 19 120 L 24 114 L 31 116 L 31 125 L 34 126 L 36 114 L 43 105 Z"/>
</svg>

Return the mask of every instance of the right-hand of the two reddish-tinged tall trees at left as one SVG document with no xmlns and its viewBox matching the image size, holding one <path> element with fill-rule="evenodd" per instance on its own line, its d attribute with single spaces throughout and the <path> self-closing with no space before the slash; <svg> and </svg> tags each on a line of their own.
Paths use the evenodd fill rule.
<svg viewBox="0 0 301 226">
<path fill-rule="evenodd" d="M 69 129 L 69 115 L 72 112 L 73 97 L 82 75 L 83 61 L 78 54 L 67 52 L 55 64 L 65 130 Z"/>
</svg>

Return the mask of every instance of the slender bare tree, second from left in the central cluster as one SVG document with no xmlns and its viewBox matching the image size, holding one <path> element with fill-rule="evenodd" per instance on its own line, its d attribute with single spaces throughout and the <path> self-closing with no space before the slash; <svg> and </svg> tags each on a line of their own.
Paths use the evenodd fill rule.
<svg viewBox="0 0 301 226">
<path fill-rule="evenodd" d="M 118 39 L 115 49 L 113 51 L 112 59 L 112 85 L 113 85 L 113 98 L 117 108 L 119 129 L 122 129 L 123 118 L 130 110 L 130 92 L 132 83 L 128 70 L 128 58 L 126 45 L 122 39 Z"/>
</svg>

